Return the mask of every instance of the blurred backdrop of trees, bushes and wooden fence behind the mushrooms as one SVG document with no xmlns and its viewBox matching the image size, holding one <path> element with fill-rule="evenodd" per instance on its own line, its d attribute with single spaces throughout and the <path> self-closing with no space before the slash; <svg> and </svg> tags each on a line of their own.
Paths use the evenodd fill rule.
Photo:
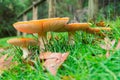
<svg viewBox="0 0 120 80">
<path fill-rule="evenodd" d="M 98 22 L 120 17 L 120 0 L 0 0 L 0 38 L 20 35 L 13 23 L 51 17 Z"/>
</svg>

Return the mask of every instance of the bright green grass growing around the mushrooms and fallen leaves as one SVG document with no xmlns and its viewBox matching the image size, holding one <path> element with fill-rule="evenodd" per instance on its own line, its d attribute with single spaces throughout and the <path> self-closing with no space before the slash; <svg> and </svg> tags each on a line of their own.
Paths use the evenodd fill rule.
<svg viewBox="0 0 120 80">
<path fill-rule="evenodd" d="M 111 40 L 115 39 L 116 44 L 120 37 L 120 18 L 116 21 L 106 22 L 112 28 L 107 33 Z M 36 60 L 34 68 L 29 64 L 24 64 L 20 60 L 21 50 L 13 48 L 9 53 L 15 55 L 14 59 L 18 65 L 10 70 L 5 71 L 0 79 L 2 80 L 61 80 L 63 76 L 71 76 L 75 80 L 119 80 L 120 79 L 120 50 L 110 52 L 110 57 L 106 58 L 106 51 L 100 48 L 101 41 L 97 37 L 85 32 L 76 32 L 75 45 L 67 43 L 66 33 L 53 33 L 58 36 L 59 40 L 52 39 L 47 49 L 52 52 L 70 52 L 68 59 L 59 68 L 57 75 L 52 76 L 49 72 L 43 71 L 41 62 Z M 31 37 L 31 36 L 30 36 Z M 1 39 L 0 44 L 8 46 L 6 40 Z M 12 47 L 11 47 L 12 48 Z M 38 47 L 30 47 L 30 50 L 38 57 Z M 36 51 L 37 50 L 37 51 Z M 64 79 L 65 80 L 65 79 Z M 70 80 L 70 79 L 67 79 Z"/>
</svg>

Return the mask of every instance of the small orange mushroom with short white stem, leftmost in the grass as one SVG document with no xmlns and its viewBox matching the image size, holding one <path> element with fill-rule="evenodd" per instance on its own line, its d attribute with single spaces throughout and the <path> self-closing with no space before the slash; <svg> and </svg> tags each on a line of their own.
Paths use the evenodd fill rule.
<svg viewBox="0 0 120 80">
<path fill-rule="evenodd" d="M 23 51 L 23 56 L 22 56 L 23 59 L 27 58 L 28 55 L 30 54 L 27 47 L 30 45 L 37 44 L 37 42 L 32 38 L 13 38 L 13 39 L 9 39 L 7 43 L 21 47 Z"/>
</svg>

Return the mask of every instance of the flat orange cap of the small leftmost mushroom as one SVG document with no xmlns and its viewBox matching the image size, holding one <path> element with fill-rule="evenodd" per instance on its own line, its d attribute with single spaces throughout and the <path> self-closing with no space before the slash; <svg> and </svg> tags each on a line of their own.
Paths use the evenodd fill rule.
<svg viewBox="0 0 120 80">
<path fill-rule="evenodd" d="M 9 39 L 7 43 L 21 47 L 27 47 L 29 45 L 37 44 L 37 42 L 32 38 L 13 38 L 13 39 Z"/>
</svg>

